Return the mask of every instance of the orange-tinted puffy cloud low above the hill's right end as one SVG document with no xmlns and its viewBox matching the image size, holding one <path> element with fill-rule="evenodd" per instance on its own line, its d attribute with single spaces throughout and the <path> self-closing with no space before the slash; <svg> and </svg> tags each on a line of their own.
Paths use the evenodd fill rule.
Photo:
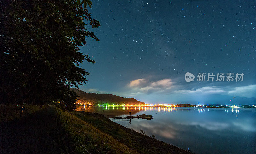
<svg viewBox="0 0 256 154">
<path fill-rule="evenodd" d="M 158 81 L 151 81 L 149 82 L 146 79 L 137 79 L 132 80 L 129 84 L 129 87 L 133 88 L 138 92 L 142 93 L 152 93 L 156 91 L 164 91 L 171 89 L 172 87 L 172 80 L 171 79 L 162 79 Z"/>
</svg>

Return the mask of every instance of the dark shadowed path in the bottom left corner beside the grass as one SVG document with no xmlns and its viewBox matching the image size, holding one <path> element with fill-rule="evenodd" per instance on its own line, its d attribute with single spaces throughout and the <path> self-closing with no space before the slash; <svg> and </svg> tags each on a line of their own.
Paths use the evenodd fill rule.
<svg viewBox="0 0 256 154">
<path fill-rule="evenodd" d="M 54 107 L 0 123 L 0 153 L 63 153 Z"/>
</svg>

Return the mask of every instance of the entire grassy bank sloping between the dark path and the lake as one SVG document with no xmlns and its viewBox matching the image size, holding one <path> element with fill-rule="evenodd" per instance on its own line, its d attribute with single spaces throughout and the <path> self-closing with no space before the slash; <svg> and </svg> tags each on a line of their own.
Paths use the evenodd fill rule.
<svg viewBox="0 0 256 154">
<path fill-rule="evenodd" d="M 61 110 L 57 110 L 60 115 Z M 66 118 L 70 127 L 65 124 Z M 73 136 L 78 152 L 83 152 L 83 147 L 78 142 L 80 140 L 90 153 L 190 153 L 125 128 L 101 114 L 83 111 L 69 114 L 62 111 L 61 121 L 68 134 Z"/>
</svg>

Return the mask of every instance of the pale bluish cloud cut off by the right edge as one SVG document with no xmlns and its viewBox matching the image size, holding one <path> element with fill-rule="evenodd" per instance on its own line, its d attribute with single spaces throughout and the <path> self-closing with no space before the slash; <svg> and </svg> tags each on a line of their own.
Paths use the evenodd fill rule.
<svg viewBox="0 0 256 154">
<path fill-rule="evenodd" d="M 235 87 L 232 90 L 228 91 L 228 94 L 241 96 L 241 97 L 255 97 L 256 96 L 256 84 Z"/>
</svg>

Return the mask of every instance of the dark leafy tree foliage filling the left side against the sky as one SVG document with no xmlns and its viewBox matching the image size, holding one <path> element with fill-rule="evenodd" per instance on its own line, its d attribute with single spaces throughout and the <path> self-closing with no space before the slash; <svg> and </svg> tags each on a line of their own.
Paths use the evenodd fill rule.
<svg viewBox="0 0 256 154">
<path fill-rule="evenodd" d="M 82 5 L 84 4 L 84 5 Z M 73 109 L 76 93 L 69 87 L 86 84 L 89 73 L 79 46 L 85 38 L 99 41 L 86 29 L 100 27 L 83 8 L 89 0 L 0 1 L 0 103 L 41 104 L 60 101 Z"/>
</svg>

